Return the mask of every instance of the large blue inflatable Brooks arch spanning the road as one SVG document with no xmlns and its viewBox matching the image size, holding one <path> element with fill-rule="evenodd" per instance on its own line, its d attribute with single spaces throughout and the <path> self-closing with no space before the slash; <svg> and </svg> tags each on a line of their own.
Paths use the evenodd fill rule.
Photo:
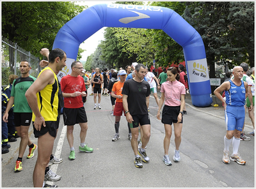
<svg viewBox="0 0 256 189">
<path fill-rule="evenodd" d="M 211 105 L 211 85 L 204 43 L 200 34 L 178 13 L 159 6 L 97 4 L 61 27 L 52 49 L 63 49 L 69 60 L 76 60 L 79 45 L 102 27 L 162 29 L 183 48 L 193 105 Z"/>
</svg>

